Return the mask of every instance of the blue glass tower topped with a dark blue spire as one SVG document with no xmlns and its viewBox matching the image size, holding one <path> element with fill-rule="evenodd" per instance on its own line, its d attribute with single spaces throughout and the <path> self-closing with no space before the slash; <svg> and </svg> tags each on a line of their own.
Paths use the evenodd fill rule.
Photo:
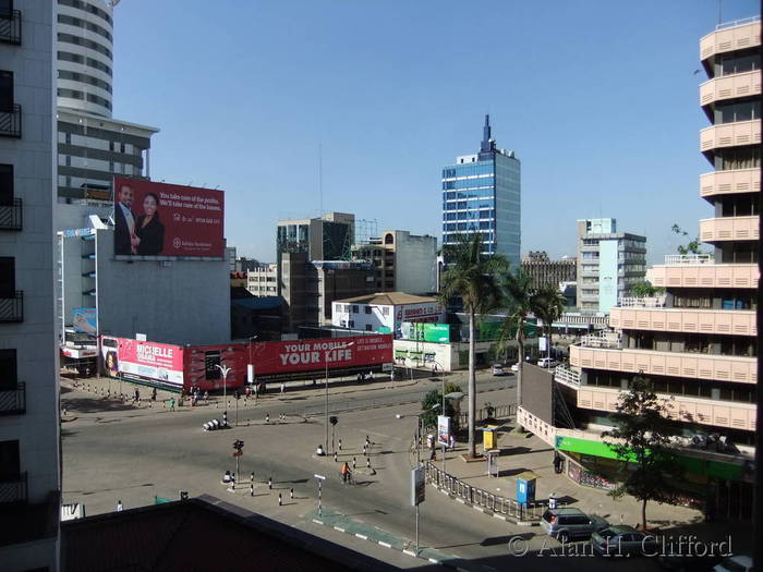
<svg viewBox="0 0 763 572">
<path fill-rule="evenodd" d="M 485 115 L 476 155 L 457 157 L 443 169 L 443 244 L 458 234 L 480 232 L 483 253 L 502 254 L 520 265 L 520 162 L 513 151 L 498 149 Z"/>
</svg>

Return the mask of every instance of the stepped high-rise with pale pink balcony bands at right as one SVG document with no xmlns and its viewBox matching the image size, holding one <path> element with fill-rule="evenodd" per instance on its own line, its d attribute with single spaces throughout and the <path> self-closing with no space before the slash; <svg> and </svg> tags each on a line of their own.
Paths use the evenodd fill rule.
<svg viewBox="0 0 763 572">
<path fill-rule="evenodd" d="M 700 177 L 700 195 L 714 208 L 700 220 L 700 239 L 713 252 L 667 255 L 647 272 L 665 292 L 621 301 L 609 317 L 616 331 L 584 337 L 570 346 L 571 367 L 556 372 L 576 415 L 576 430 L 557 431 L 558 449 L 584 468 L 616 474 L 601 430 L 633 376 L 644 375 L 683 429 L 685 495 L 731 520 L 751 519 L 756 494 L 760 48 L 759 16 L 700 40 L 710 77 L 700 105 L 712 123 L 700 148 L 714 168 Z"/>
</svg>

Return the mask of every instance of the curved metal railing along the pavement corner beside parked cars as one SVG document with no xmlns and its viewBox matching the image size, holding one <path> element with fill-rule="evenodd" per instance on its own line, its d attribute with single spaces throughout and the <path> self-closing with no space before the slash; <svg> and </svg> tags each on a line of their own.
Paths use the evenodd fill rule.
<svg viewBox="0 0 763 572">
<path fill-rule="evenodd" d="M 524 522 L 540 521 L 543 514 L 544 506 L 541 502 L 531 502 L 525 507 L 514 499 L 473 487 L 438 468 L 432 462 L 426 463 L 425 473 L 427 483 L 472 507 L 480 507 Z"/>
</svg>

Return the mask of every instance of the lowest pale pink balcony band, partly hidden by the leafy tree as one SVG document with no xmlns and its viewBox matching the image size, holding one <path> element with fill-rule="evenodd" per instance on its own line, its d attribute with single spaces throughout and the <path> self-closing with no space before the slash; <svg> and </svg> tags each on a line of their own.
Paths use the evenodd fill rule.
<svg viewBox="0 0 763 572">
<path fill-rule="evenodd" d="M 578 406 L 589 410 L 616 411 L 619 389 L 583 386 L 578 391 Z M 669 400 L 668 417 L 689 423 L 716 425 L 730 429 L 755 430 L 755 405 L 732 401 L 717 401 L 686 395 L 657 394 Z"/>
</svg>

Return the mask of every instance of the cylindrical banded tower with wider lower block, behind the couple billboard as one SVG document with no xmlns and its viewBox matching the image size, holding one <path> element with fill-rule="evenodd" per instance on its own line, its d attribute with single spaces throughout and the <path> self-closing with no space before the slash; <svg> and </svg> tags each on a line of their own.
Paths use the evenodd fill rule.
<svg viewBox="0 0 763 572">
<path fill-rule="evenodd" d="M 150 137 L 159 130 L 112 119 L 113 0 L 58 0 L 59 230 L 106 218 L 113 175 L 150 177 Z M 99 208 L 100 207 L 100 208 Z"/>
</svg>

